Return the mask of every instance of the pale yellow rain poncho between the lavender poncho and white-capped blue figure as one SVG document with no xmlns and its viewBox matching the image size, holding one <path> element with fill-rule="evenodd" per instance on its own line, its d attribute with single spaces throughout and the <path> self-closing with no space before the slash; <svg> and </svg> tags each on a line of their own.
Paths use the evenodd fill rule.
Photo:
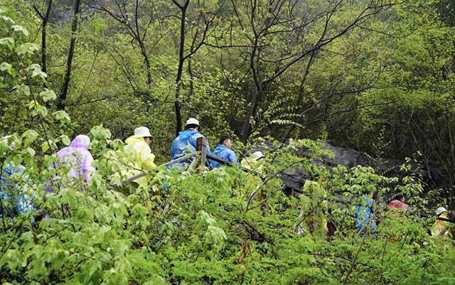
<svg viewBox="0 0 455 285">
<path fill-rule="evenodd" d="M 122 171 L 123 175 L 131 177 L 141 173 L 141 171 L 151 171 L 156 167 L 155 155 L 151 153 L 150 146 L 146 144 L 144 137 L 130 136 L 125 143 L 127 143 L 124 148 L 125 154 L 132 156 L 132 164 L 129 163 L 129 168 Z M 138 184 L 146 183 L 146 181 L 146 176 L 134 180 Z"/>
</svg>

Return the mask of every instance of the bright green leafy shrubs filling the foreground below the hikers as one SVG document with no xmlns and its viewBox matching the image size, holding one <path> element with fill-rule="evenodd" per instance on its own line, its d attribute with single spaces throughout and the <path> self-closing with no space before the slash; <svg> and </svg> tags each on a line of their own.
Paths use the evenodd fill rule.
<svg viewBox="0 0 455 285">
<path fill-rule="evenodd" d="M 37 213 L 9 219 L 0 236 L 2 281 L 18 283 L 145 284 L 155 283 L 340 283 L 359 247 L 353 230 L 353 204 L 336 203 L 343 197 L 374 190 L 388 191 L 396 179 L 378 176 L 371 168 L 316 167 L 311 160 L 326 153 L 311 141 L 294 141 L 267 161 L 268 177 L 251 187 L 252 173 L 239 168 L 217 168 L 200 175 L 164 176 L 129 195 L 109 186 L 118 163 L 107 154 L 107 129 L 92 129 L 97 173 L 90 184 L 75 182 L 44 190 L 50 173 L 43 166 L 27 167 L 27 193 L 49 218 L 31 225 Z M 19 159 L 28 166 L 36 131 L 23 134 L 23 150 L 1 144 L 2 158 Z M 21 144 L 21 138 L 14 136 Z M 16 145 L 19 145 L 16 144 Z M 291 149 L 306 146 L 312 157 L 292 156 Z M 26 148 L 26 149 L 25 149 Z M 328 154 L 330 155 L 330 154 Z M 268 156 L 271 157 L 271 156 Z M 29 161 L 31 163 L 31 161 Z M 288 197 L 278 179 L 291 166 L 318 173 L 325 188 L 317 198 Z M 59 170 L 63 179 L 65 169 Z M 168 188 L 161 188 L 161 182 Z M 54 182 L 57 182 L 53 178 Z M 400 181 L 407 195 L 419 194 L 419 181 Z M 415 184 L 414 184 L 415 183 Z M 252 193 L 255 198 L 249 199 Z M 261 195 L 259 195 L 261 193 Z M 266 195 L 267 199 L 262 198 Z M 354 197 L 354 196 L 353 196 Z M 316 199 L 316 200 L 314 200 Z M 327 202 L 323 202 L 328 199 Z M 294 205 L 287 208 L 286 205 Z M 313 210 L 311 210 L 313 209 Z M 326 241 L 323 232 L 299 234 L 296 228 L 313 219 L 330 217 L 337 236 Z M 304 213 L 303 216 L 299 215 Z M 329 214 L 331 213 L 331 214 Z M 383 210 L 376 209 L 379 216 Z M 302 220 L 303 219 L 303 220 Z M 433 282 L 443 284 L 454 272 L 454 247 L 430 238 L 428 222 L 414 217 L 384 217 L 376 237 L 368 237 L 355 260 L 351 283 Z M 391 243 L 390 240 L 395 242 Z M 437 277 L 436 277 L 437 276 Z"/>
</svg>

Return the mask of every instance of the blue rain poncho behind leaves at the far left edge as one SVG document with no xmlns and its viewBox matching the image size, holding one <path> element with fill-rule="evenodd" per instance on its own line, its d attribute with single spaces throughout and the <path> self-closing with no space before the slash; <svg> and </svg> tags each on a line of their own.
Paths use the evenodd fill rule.
<svg viewBox="0 0 455 285">
<path fill-rule="evenodd" d="M 1 172 L 0 180 L 0 220 L 3 215 L 14 217 L 21 215 L 26 210 L 33 210 L 32 199 L 23 193 L 23 188 L 26 188 L 23 175 L 25 167 L 21 164 L 16 168 L 13 163 L 8 163 L 6 168 Z M 11 177 L 18 173 L 15 178 Z"/>
</svg>

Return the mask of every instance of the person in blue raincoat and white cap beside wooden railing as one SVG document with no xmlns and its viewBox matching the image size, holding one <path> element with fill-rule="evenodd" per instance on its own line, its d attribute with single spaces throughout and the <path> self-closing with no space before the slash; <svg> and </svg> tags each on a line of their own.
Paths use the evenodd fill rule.
<svg viewBox="0 0 455 285">
<path fill-rule="evenodd" d="M 186 121 L 185 131 L 178 133 L 176 139 L 173 140 L 171 149 L 172 149 L 172 160 L 176 160 L 185 156 L 186 154 L 191 154 L 196 151 L 197 140 L 200 137 L 205 138 L 200 134 L 200 124 L 197 119 L 190 118 Z M 210 146 L 207 142 L 207 153 L 210 154 Z M 194 158 L 189 158 L 179 163 L 168 166 L 168 168 L 175 168 L 181 171 L 185 171 L 188 168 L 191 161 Z"/>
</svg>

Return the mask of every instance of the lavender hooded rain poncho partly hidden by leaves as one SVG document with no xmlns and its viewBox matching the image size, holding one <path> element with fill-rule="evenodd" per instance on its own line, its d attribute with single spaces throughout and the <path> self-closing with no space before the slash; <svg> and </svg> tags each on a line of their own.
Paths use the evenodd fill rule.
<svg viewBox="0 0 455 285">
<path fill-rule="evenodd" d="M 90 176 L 96 171 L 92 166 L 92 154 L 87 151 L 89 144 L 90 138 L 81 134 L 71 141 L 70 146 L 60 149 L 57 153 L 60 166 L 71 166 L 68 174 L 74 178 L 83 176 L 84 182 L 89 182 Z M 53 167 L 53 164 L 50 167 Z"/>
</svg>

